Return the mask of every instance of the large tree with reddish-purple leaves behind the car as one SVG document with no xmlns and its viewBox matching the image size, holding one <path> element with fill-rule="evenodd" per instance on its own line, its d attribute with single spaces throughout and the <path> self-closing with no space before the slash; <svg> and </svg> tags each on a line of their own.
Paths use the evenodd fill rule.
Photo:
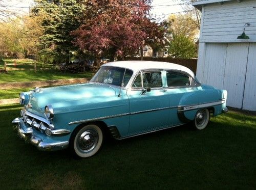
<svg viewBox="0 0 256 190">
<path fill-rule="evenodd" d="M 84 2 L 83 24 L 72 34 L 75 45 L 81 50 L 94 52 L 96 64 L 104 52 L 113 61 L 116 56 L 124 59 L 154 38 L 148 31 L 158 25 L 151 22 L 150 0 L 91 0 Z"/>
</svg>

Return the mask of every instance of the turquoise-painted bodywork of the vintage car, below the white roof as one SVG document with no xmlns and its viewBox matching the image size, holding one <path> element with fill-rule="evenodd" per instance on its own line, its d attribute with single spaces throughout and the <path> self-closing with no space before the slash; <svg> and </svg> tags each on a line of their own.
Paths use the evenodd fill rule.
<svg viewBox="0 0 256 190">
<path fill-rule="evenodd" d="M 54 109 L 54 129 L 68 129 L 71 132 L 80 124 L 70 122 L 128 114 L 101 119 L 108 126 L 116 126 L 121 137 L 157 130 L 183 122 L 177 115 L 178 106 L 214 102 L 227 98 L 225 90 L 201 85 L 188 88 L 167 88 L 166 72 L 162 71 L 161 89 L 151 89 L 141 94 L 140 90 L 121 89 L 115 86 L 88 83 L 79 85 L 44 88 L 39 92 L 25 92 L 26 101 L 32 103 L 29 111 L 44 116 L 44 108 L 51 104 Z M 118 96 L 120 92 L 120 97 Z M 166 108 L 167 107 L 167 108 Z M 221 114 L 226 103 L 214 106 L 214 116 Z M 133 114 L 136 112 L 151 111 Z M 198 110 L 184 112 L 187 119 L 194 120 Z M 26 124 L 23 124 L 26 128 Z M 63 137 L 49 137 L 35 130 L 34 135 L 47 142 L 69 141 L 71 134 Z"/>
</svg>

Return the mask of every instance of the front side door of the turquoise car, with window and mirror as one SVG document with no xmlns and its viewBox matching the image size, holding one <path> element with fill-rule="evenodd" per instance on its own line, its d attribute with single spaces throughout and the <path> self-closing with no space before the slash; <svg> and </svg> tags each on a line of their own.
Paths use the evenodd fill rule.
<svg viewBox="0 0 256 190">
<path fill-rule="evenodd" d="M 168 125 L 169 98 L 160 70 L 141 71 L 127 91 L 130 102 L 129 135 Z"/>
</svg>

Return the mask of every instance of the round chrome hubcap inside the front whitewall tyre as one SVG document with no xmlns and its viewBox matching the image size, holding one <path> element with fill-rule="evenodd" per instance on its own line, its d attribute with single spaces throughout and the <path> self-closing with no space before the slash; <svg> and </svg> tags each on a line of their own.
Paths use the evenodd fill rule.
<svg viewBox="0 0 256 190">
<path fill-rule="evenodd" d="M 93 150 L 99 140 L 97 131 L 88 129 L 82 132 L 78 139 L 78 147 L 81 152 L 89 152 Z"/>
</svg>

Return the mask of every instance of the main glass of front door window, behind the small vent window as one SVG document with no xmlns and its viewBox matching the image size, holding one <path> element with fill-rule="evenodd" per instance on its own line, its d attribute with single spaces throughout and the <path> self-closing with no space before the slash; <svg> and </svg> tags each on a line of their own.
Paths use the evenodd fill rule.
<svg viewBox="0 0 256 190">
<path fill-rule="evenodd" d="M 161 72 L 145 72 L 142 77 L 144 88 L 159 88 L 163 86 Z"/>
</svg>

